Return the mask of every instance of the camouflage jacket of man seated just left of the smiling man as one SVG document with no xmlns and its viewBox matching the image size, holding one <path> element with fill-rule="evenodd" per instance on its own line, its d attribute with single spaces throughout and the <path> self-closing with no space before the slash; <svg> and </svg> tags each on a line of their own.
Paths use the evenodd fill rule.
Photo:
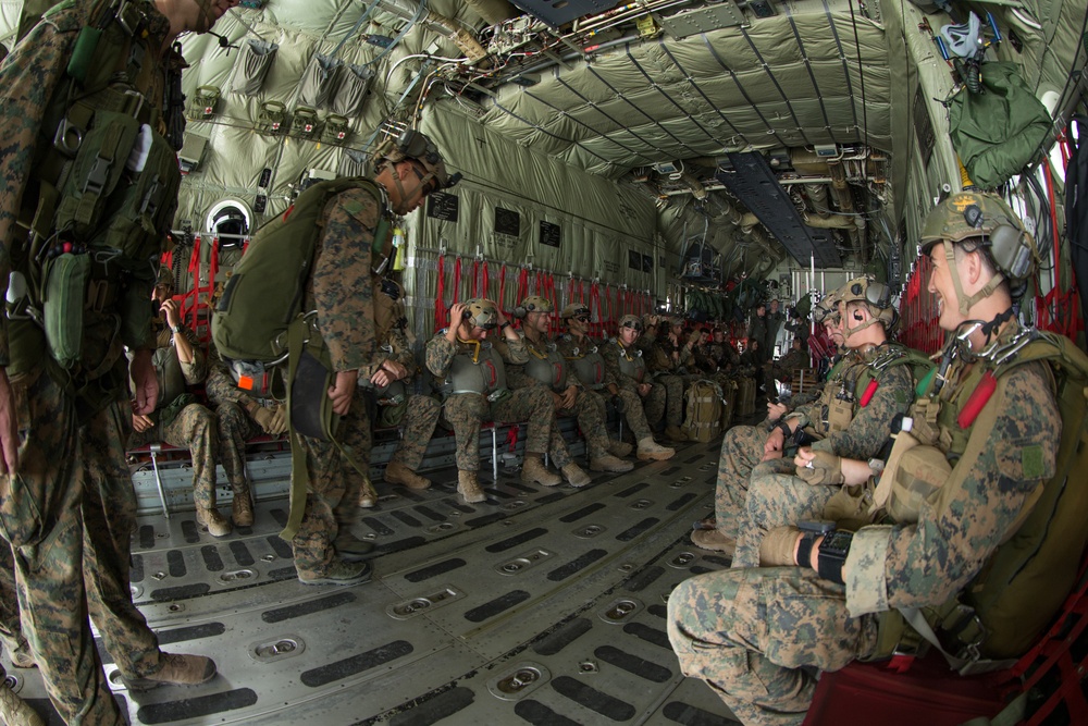
<svg viewBox="0 0 1088 726">
<path fill-rule="evenodd" d="M 852 404 L 853 416 L 843 431 L 827 433 L 821 440 L 813 443 L 817 451 L 831 452 L 845 458 L 868 460 L 876 456 L 891 435 L 891 422 L 897 414 L 905 414 L 914 399 L 914 379 L 908 366 L 892 366 L 886 368 L 877 377 L 876 393 L 865 406 L 860 399 L 864 391 L 860 390 L 862 373 L 866 368 L 887 350 L 887 346 L 897 343 L 885 343 L 864 354 L 850 354 L 851 362 L 843 365 L 838 383 L 828 381 L 824 386 L 824 395 L 814 403 L 799 407 L 787 416 L 789 419 L 800 419 L 801 426 L 812 426 L 817 434 L 824 434 L 827 429 L 828 411 L 834 398 Z"/>
</svg>

